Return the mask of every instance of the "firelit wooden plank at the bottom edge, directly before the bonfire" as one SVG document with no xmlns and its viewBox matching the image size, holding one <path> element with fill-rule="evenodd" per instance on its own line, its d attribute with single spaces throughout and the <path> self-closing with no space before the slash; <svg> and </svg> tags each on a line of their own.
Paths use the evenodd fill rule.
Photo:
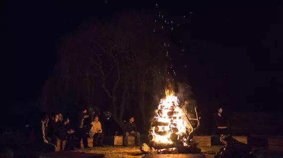
<svg viewBox="0 0 283 158">
<path fill-rule="evenodd" d="M 145 155 L 142 158 L 206 158 L 203 154 L 156 154 Z"/>
</svg>

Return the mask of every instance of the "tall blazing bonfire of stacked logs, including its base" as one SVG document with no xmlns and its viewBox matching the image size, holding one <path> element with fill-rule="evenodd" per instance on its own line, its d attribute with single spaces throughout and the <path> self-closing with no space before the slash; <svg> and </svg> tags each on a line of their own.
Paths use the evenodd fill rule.
<svg viewBox="0 0 283 158">
<path fill-rule="evenodd" d="M 194 131 L 200 126 L 198 121 L 193 128 L 186 111 L 182 110 L 180 102 L 172 90 L 166 89 L 166 97 L 160 100 L 156 115 L 149 129 L 149 144 L 143 144 L 141 152 L 144 154 L 161 153 L 195 153 L 196 143 L 192 143 Z M 183 107 L 185 109 L 185 107 Z M 198 152 L 200 152 L 198 150 Z"/>
</svg>

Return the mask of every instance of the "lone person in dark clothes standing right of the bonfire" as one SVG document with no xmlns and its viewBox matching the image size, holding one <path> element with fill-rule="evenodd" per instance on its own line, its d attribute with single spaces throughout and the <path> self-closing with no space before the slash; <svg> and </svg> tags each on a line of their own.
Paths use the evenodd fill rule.
<svg viewBox="0 0 283 158">
<path fill-rule="evenodd" d="M 217 113 L 213 114 L 213 117 L 215 121 L 213 134 L 215 135 L 228 134 L 227 120 L 223 115 L 223 109 L 220 108 Z"/>
</svg>

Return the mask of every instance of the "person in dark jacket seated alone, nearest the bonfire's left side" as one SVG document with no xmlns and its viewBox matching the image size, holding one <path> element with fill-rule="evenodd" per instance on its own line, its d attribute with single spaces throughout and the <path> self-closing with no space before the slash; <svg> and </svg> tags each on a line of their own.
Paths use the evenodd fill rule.
<svg viewBox="0 0 283 158">
<path fill-rule="evenodd" d="M 126 126 L 126 135 L 125 135 L 125 139 L 124 139 L 124 146 L 128 146 L 128 137 L 129 135 L 133 135 L 135 137 L 137 137 L 137 146 L 141 146 L 141 135 L 138 132 L 138 128 L 136 123 L 134 123 L 135 119 L 134 117 L 131 117 L 129 119 L 129 122 L 127 123 Z"/>
</svg>

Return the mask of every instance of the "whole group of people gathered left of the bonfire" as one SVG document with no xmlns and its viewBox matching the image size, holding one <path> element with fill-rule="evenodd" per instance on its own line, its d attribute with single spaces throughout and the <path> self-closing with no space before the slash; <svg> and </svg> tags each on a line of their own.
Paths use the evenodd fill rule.
<svg viewBox="0 0 283 158">
<path fill-rule="evenodd" d="M 83 108 L 78 115 L 78 122 L 75 129 L 71 128 L 70 119 L 63 119 L 62 114 L 53 116 L 52 120 L 49 119 L 45 113 L 41 115 L 41 129 L 37 127 L 37 141 L 38 147 L 47 152 L 54 152 L 57 147 L 58 139 L 66 140 L 65 149 L 67 151 L 80 148 L 80 141 L 82 140 L 84 148 L 88 146 L 87 138 L 93 138 L 93 147 L 102 147 L 103 143 L 103 130 L 99 117 L 95 116 L 93 121 L 89 123 L 85 121 L 90 116 L 87 114 L 86 108 Z M 129 119 L 125 129 L 124 146 L 128 146 L 128 136 L 133 135 L 137 137 L 137 145 L 141 145 L 141 135 L 138 132 L 137 125 L 134 123 L 134 117 Z M 77 142 L 75 142 L 76 136 Z"/>
</svg>

